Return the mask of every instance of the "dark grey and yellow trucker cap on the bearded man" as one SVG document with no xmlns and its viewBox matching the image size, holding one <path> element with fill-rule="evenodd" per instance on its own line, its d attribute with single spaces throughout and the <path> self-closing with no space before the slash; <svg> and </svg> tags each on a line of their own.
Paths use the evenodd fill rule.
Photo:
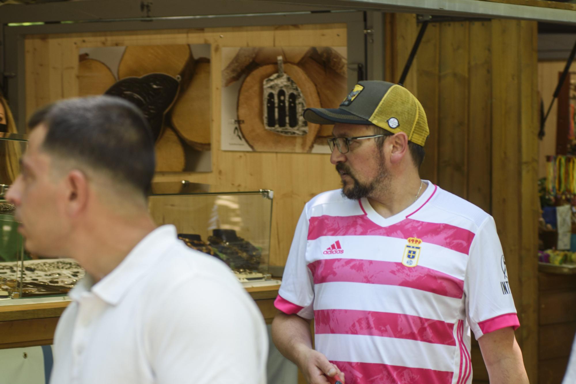
<svg viewBox="0 0 576 384">
<path fill-rule="evenodd" d="M 430 134 L 426 113 L 408 89 L 387 81 L 359 81 L 339 108 L 306 108 L 304 119 L 316 124 L 376 125 L 424 146 Z"/>
</svg>

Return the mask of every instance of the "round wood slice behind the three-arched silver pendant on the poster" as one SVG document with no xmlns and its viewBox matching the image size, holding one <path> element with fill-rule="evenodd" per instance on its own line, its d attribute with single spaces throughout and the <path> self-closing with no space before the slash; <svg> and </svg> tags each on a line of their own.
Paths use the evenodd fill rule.
<svg viewBox="0 0 576 384">
<path fill-rule="evenodd" d="M 278 72 L 278 65 L 264 65 L 253 70 L 244 80 L 238 93 L 238 119 L 244 140 L 253 149 L 261 152 L 310 152 L 320 126 L 308 123 L 308 134 L 287 136 L 264 128 L 263 81 Z M 285 63 L 284 72 L 294 80 L 307 108 L 320 107 L 316 86 L 300 67 Z"/>
</svg>

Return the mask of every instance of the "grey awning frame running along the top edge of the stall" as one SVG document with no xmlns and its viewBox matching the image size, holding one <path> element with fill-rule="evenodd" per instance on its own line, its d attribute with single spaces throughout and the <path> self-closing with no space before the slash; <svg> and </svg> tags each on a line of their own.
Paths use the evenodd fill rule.
<svg viewBox="0 0 576 384">
<path fill-rule="evenodd" d="M 142 7 L 142 4 L 149 7 Z M 467 18 L 516 18 L 576 25 L 576 4 L 541 0 L 75 0 L 5 5 L 0 23 L 161 18 L 321 10 L 380 10 Z"/>
</svg>

